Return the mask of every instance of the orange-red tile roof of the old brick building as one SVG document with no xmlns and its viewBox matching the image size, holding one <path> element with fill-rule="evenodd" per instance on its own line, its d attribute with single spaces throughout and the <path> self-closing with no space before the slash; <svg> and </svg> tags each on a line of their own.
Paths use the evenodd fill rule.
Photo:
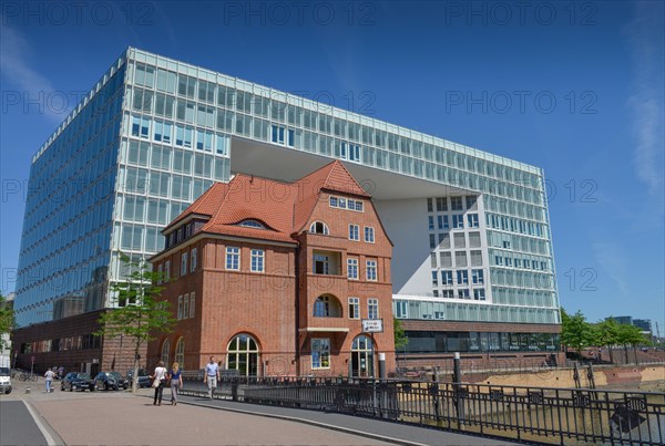
<svg viewBox="0 0 665 446">
<path fill-rule="evenodd" d="M 202 231 L 264 240 L 294 242 L 321 190 L 369 198 L 338 160 L 294 181 L 282 183 L 238 174 L 228 184 L 216 183 L 166 228 L 191 215 L 209 216 Z M 266 229 L 238 226 L 255 220 Z"/>
</svg>

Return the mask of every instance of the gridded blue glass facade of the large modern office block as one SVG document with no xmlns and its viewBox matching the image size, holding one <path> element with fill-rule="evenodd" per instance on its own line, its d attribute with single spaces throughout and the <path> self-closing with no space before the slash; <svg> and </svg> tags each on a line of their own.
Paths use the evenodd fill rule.
<svg viewBox="0 0 665 446">
<path fill-rule="evenodd" d="M 540 168 L 129 49 L 33 159 L 34 193 L 28 198 L 19 260 L 19 324 L 106 305 L 104 287 L 122 276 L 119 252 L 145 257 L 162 249 L 160 229 L 213 181 L 229 179 L 235 138 L 422 178 L 482 197 L 483 221 L 451 218 L 436 225 L 484 228 L 492 251 L 484 266 L 489 268 L 484 288 L 493 303 L 484 303 L 477 314 L 478 305 L 471 303 L 438 302 L 443 309 L 439 313 L 446 314 L 441 318 L 559 322 Z M 81 179 L 85 187 L 60 203 L 53 198 L 59 189 L 40 187 L 53 178 L 68 185 Z M 437 209 L 443 206 L 436 204 Z M 475 201 L 464 205 L 471 208 Z M 457 207 L 450 203 L 452 214 Z M 485 252 L 488 246 L 482 247 Z M 518 259 L 521 266 L 538 263 L 538 272 L 516 268 Z M 89 295 L 92 289 L 99 294 Z M 410 314 L 421 318 L 423 312 Z"/>
</svg>

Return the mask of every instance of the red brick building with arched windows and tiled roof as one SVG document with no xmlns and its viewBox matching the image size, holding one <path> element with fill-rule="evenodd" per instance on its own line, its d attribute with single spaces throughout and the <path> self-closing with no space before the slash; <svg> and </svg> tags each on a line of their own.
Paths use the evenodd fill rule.
<svg viewBox="0 0 665 446">
<path fill-rule="evenodd" d="M 177 324 L 149 344 L 149 366 L 214 355 L 241 375 L 371 376 L 385 353 L 395 370 L 392 243 L 340 162 L 289 184 L 236 175 L 162 234 L 151 262 Z"/>
</svg>

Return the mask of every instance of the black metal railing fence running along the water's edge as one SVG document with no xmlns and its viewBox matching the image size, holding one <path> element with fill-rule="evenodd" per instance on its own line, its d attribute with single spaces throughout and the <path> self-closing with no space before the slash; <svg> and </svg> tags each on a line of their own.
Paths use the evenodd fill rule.
<svg viewBox="0 0 665 446">
<path fill-rule="evenodd" d="M 201 374 L 182 393 L 206 396 Z M 417 381 L 224 376 L 214 393 L 255 404 L 362 415 L 548 444 L 665 444 L 665 393 Z"/>
</svg>

